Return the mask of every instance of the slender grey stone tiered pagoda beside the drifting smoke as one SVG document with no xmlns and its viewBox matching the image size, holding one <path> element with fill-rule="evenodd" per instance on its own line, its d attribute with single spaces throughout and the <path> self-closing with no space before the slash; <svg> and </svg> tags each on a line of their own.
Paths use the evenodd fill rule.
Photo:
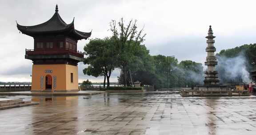
<svg viewBox="0 0 256 135">
<path fill-rule="evenodd" d="M 207 66 L 207 71 L 205 71 L 205 79 L 204 79 L 204 85 L 205 86 L 211 86 L 211 85 L 218 85 L 219 84 L 219 79 L 218 79 L 218 72 L 215 69 L 215 66 L 218 64 L 217 59 L 215 57 L 214 52 L 216 52 L 216 48 L 214 47 L 215 41 L 213 40 L 215 36 L 213 36 L 212 32 L 212 26 L 210 25 L 210 28 L 208 30 L 208 36 L 207 38 L 207 57 L 206 57 L 206 62 L 205 65 Z"/>
</svg>

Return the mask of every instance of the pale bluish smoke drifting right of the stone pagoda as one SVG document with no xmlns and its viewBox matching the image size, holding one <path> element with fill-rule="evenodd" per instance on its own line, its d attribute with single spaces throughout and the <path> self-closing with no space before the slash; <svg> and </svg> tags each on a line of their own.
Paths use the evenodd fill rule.
<svg viewBox="0 0 256 135">
<path fill-rule="evenodd" d="M 225 56 L 216 57 L 218 59 L 216 70 L 222 83 L 237 78 L 242 79 L 243 83 L 248 84 L 252 82 L 250 73 L 247 70 L 249 64 L 242 53 L 233 58 L 227 58 Z"/>
</svg>

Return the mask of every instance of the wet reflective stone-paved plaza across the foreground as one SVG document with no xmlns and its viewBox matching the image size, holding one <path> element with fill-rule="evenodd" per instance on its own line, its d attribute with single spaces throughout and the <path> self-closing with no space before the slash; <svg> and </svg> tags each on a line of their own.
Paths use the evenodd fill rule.
<svg viewBox="0 0 256 135">
<path fill-rule="evenodd" d="M 15 97 L 40 104 L 0 111 L 0 135 L 256 135 L 255 96 L 182 98 L 168 93 L 119 93 Z"/>
</svg>

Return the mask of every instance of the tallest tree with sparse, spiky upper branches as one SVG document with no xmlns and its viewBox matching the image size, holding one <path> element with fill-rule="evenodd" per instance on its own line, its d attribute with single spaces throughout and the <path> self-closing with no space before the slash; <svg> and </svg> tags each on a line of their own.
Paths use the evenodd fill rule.
<svg viewBox="0 0 256 135">
<path fill-rule="evenodd" d="M 134 61 L 136 47 L 144 41 L 142 28 L 137 31 L 137 20 L 130 20 L 127 25 L 124 24 L 123 18 L 116 25 L 116 21 L 112 20 L 110 23 L 110 30 L 112 32 L 112 40 L 116 47 L 117 66 L 124 73 L 124 86 L 127 86 L 127 72 L 128 65 Z"/>
</svg>

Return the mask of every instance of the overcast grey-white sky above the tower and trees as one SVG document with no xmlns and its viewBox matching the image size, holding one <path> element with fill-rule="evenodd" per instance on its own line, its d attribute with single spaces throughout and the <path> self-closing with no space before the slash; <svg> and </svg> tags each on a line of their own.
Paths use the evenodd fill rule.
<svg viewBox="0 0 256 135">
<path fill-rule="evenodd" d="M 75 17 L 75 28 L 90 32 L 91 38 L 110 36 L 111 20 L 138 20 L 145 25 L 144 44 L 151 55 L 176 56 L 204 63 L 208 26 L 212 25 L 216 52 L 256 43 L 255 0 L 0 0 L 0 81 L 31 81 L 32 61 L 24 58 L 25 48 L 33 49 L 33 38 L 19 33 L 16 22 L 36 25 L 49 20 L 59 6 L 67 23 Z M 89 40 L 79 40 L 78 50 Z M 83 75 L 79 81 L 103 78 Z M 117 81 L 116 70 L 112 82 Z"/>
</svg>

